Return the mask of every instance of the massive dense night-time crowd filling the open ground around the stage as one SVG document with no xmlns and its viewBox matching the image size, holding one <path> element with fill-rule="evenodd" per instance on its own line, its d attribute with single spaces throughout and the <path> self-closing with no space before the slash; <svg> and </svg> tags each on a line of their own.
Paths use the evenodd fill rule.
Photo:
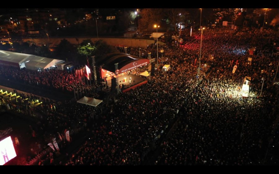
<svg viewBox="0 0 279 174">
<path fill-rule="evenodd" d="M 206 30 L 201 53 L 201 63 L 206 65 L 197 79 L 195 60 L 199 58 L 200 38 L 197 34 L 179 47 L 163 46 L 163 61 L 170 64 L 171 70 L 156 71 L 147 84 L 119 94 L 106 114 L 99 106 L 91 108 L 76 101 L 43 102 L 36 107 L 41 113 L 38 126 L 44 135 L 41 142 L 47 144 L 52 137 L 50 133 L 75 129 L 101 118 L 100 123 L 89 124 L 90 138 L 62 164 L 139 165 L 151 151 L 159 148 L 162 154 L 154 164 L 248 165 L 278 161 L 275 150 L 270 150 L 271 156 L 265 156 L 271 144 L 278 145 L 276 138 L 270 143 L 278 130 L 274 124 L 279 108 L 278 85 L 273 83 L 278 61 L 273 44 L 278 44 L 278 40 L 274 32 Z M 250 47 L 256 47 L 254 55 L 249 55 Z M 129 47 L 127 51 L 139 55 L 139 47 Z M 156 57 L 156 51 L 152 45 L 140 49 L 145 58 L 149 52 Z M 252 57 L 251 64 L 248 57 Z M 232 74 L 236 62 L 237 70 Z M 71 91 L 70 85 L 63 84 L 71 80 L 68 73 L 33 74 L 27 70 L 3 69 L 0 76 L 5 78 L 20 80 L 17 78 L 20 75 L 25 83 L 49 84 Z M 245 76 L 251 77 L 248 99 L 241 97 Z M 262 77 L 265 78 L 263 97 L 259 97 Z M 99 96 L 97 87 L 86 87 L 91 90 L 89 96 Z M 177 128 L 166 138 L 174 123 Z"/>
</svg>

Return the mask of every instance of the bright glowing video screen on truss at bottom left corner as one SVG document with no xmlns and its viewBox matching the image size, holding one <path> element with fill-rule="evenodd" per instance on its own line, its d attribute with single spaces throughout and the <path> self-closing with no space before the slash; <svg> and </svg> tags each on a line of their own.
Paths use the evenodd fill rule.
<svg viewBox="0 0 279 174">
<path fill-rule="evenodd" d="M 4 165 L 12 158 L 16 157 L 15 148 L 13 145 L 13 141 L 11 140 L 11 136 L 0 141 L 0 152 L 0 165 Z"/>
</svg>

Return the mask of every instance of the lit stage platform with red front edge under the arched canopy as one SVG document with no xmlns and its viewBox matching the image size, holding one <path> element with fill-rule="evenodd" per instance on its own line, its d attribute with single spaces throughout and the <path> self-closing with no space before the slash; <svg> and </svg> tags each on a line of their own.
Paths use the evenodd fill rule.
<svg viewBox="0 0 279 174">
<path fill-rule="evenodd" d="M 131 85 L 129 82 L 130 77 L 132 78 Z M 123 93 L 130 91 L 131 89 L 138 87 L 142 84 L 147 83 L 147 78 L 139 77 L 139 76 L 136 76 L 133 74 L 119 75 L 118 78 L 119 78 L 119 82 L 118 82 L 119 85 L 121 85 L 121 87 L 122 87 L 122 84 L 124 84 L 124 90 L 121 90 L 121 91 L 123 91 Z M 126 82 L 124 82 L 124 78 L 126 78 Z M 108 80 L 108 86 L 111 87 L 111 80 Z"/>
</svg>

